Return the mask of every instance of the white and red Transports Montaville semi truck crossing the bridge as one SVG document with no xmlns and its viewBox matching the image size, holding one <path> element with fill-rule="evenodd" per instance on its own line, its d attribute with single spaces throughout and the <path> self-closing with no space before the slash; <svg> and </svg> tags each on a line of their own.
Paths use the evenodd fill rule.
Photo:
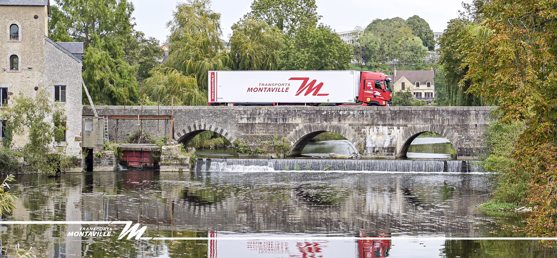
<svg viewBox="0 0 557 258">
<path fill-rule="evenodd" d="M 392 105 L 392 80 L 382 72 L 346 70 L 208 73 L 208 105 Z"/>
</svg>

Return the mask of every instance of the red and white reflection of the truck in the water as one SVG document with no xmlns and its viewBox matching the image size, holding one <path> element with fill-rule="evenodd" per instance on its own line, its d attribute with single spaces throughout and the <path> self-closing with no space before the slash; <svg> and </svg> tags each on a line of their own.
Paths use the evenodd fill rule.
<svg viewBox="0 0 557 258">
<path fill-rule="evenodd" d="M 307 236 L 306 237 L 311 237 Z M 243 257 L 243 258 L 378 258 L 389 256 L 390 240 L 377 240 L 373 237 L 361 237 L 355 240 L 292 240 L 292 237 L 304 237 L 290 234 L 241 234 L 232 232 L 209 231 L 208 237 L 238 237 L 236 240 L 209 240 L 209 258 Z M 261 240 L 242 240 L 241 237 L 261 238 Z M 285 240 L 265 240 L 266 237 L 287 237 Z"/>
</svg>

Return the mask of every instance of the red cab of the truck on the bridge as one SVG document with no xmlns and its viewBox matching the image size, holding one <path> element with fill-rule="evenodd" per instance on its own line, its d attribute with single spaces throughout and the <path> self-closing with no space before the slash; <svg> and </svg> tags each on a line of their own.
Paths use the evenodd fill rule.
<svg viewBox="0 0 557 258">
<path fill-rule="evenodd" d="M 361 72 L 358 101 L 363 106 L 392 106 L 392 80 L 383 72 Z"/>
</svg>

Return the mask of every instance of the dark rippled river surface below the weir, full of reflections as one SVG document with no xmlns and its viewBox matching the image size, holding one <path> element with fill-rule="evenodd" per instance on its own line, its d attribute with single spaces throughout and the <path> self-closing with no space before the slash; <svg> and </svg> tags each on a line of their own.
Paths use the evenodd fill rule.
<svg viewBox="0 0 557 258">
<path fill-rule="evenodd" d="M 17 209 L 6 220 L 133 221 L 148 226 L 146 236 L 152 237 L 524 235 L 521 215 L 496 217 L 476 210 L 490 192 L 481 174 L 124 171 L 17 180 L 12 188 L 19 196 Z M 413 252 L 412 257 L 455 257 L 446 255 L 468 245 L 116 240 L 119 230 L 112 237 L 67 235 L 84 226 L 7 225 L 0 233 L 3 245 L 33 246 L 45 257 L 409 257 Z M 505 248 L 505 242 L 479 243 L 463 252 Z M 544 257 L 530 256 L 545 255 L 535 242 L 520 243 L 529 251 L 521 253 L 524 257 Z M 418 246 L 423 252 L 407 251 Z"/>
</svg>

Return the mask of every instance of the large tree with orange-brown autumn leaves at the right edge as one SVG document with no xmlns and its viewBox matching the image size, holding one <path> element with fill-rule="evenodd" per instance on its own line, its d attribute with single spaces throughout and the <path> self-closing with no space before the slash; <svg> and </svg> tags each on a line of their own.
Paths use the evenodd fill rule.
<svg viewBox="0 0 557 258">
<path fill-rule="evenodd" d="M 499 104 L 502 122 L 525 121 L 512 169 L 530 175 L 528 232 L 557 236 L 557 8 L 555 1 L 476 1 L 485 17 L 467 41 L 461 80 Z M 443 36 L 444 37 L 444 36 Z"/>
</svg>

